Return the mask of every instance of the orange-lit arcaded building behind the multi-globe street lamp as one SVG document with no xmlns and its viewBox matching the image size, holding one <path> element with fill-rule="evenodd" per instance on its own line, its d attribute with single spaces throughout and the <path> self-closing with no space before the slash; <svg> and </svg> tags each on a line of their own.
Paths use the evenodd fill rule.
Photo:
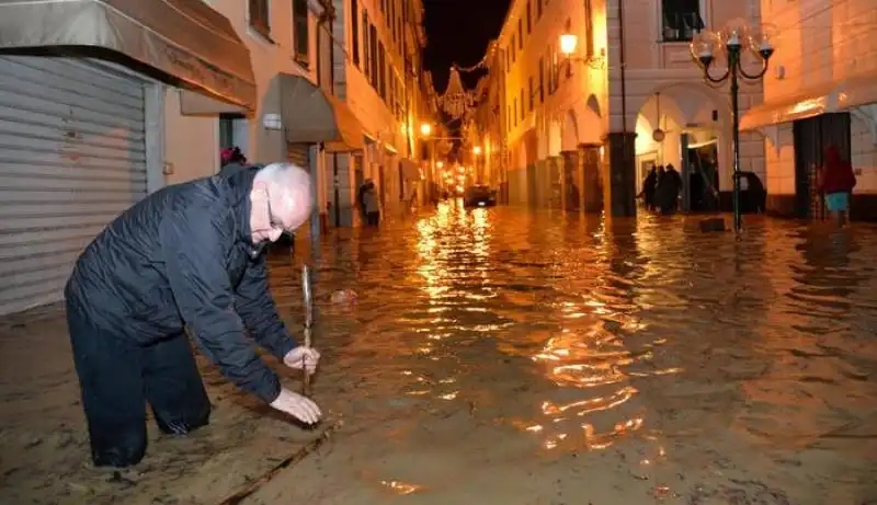
<svg viewBox="0 0 877 505">
<path fill-rule="evenodd" d="M 648 168 L 673 164 L 684 180 L 711 173 L 728 208 L 730 95 L 704 83 L 688 44 L 734 19 L 758 25 L 759 1 L 513 1 L 491 67 L 503 76 L 509 200 L 629 216 Z M 761 99 L 759 82 L 744 83 L 741 112 Z M 741 170 L 763 177 L 760 137 L 744 134 L 741 152 Z"/>
</svg>

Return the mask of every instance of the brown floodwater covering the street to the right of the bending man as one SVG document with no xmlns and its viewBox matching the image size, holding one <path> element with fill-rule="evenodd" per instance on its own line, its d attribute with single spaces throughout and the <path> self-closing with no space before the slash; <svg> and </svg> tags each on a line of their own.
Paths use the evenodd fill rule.
<svg viewBox="0 0 877 505">
<path fill-rule="evenodd" d="M 877 503 L 877 228 L 699 219 L 441 206 L 299 252 L 343 425 L 251 503 Z"/>
</svg>

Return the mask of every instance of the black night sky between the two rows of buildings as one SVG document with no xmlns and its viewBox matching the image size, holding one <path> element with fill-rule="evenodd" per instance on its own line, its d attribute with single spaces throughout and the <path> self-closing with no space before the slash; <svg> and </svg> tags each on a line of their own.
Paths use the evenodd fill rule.
<svg viewBox="0 0 877 505">
<path fill-rule="evenodd" d="M 470 67 L 485 56 L 488 43 L 500 33 L 509 3 L 510 0 L 423 0 L 426 10 L 423 59 L 438 93 L 447 85 L 451 64 Z M 481 74 L 460 72 L 460 76 L 471 89 Z"/>
</svg>

